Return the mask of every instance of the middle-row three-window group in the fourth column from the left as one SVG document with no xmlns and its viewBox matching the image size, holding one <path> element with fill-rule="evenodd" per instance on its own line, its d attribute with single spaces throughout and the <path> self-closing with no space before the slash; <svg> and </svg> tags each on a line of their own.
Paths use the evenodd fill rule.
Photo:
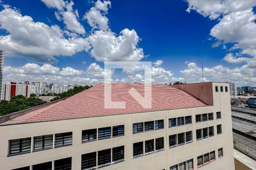
<svg viewBox="0 0 256 170">
<path fill-rule="evenodd" d="M 175 147 L 192 142 L 192 131 L 169 136 L 169 147 Z"/>
</svg>

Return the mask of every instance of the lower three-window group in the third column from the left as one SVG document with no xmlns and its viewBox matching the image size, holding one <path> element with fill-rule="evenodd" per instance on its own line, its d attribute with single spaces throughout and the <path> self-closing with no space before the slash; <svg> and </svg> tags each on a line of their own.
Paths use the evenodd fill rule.
<svg viewBox="0 0 256 170">
<path fill-rule="evenodd" d="M 144 143 L 144 147 L 143 147 Z M 143 149 L 144 148 L 144 149 Z M 133 158 L 164 150 L 164 137 L 133 143 Z"/>
</svg>

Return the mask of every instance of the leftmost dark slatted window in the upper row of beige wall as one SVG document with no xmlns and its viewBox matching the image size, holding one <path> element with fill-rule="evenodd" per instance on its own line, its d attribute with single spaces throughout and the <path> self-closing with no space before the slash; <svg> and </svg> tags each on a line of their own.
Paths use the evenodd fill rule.
<svg viewBox="0 0 256 170">
<path fill-rule="evenodd" d="M 25 154 L 30 152 L 31 138 L 14 139 L 9 141 L 9 154 Z"/>
</svg>

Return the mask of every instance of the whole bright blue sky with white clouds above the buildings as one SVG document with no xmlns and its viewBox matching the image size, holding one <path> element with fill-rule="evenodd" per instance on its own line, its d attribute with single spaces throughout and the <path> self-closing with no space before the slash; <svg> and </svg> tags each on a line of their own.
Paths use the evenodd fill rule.
<svg viewBox="0 0 256 170">
<path fill-rule="evenodd" d="M 4 81 L 97 84 L 105 61 L 150 61 L 153 83 L 256 86 L 255 0 L 0 0 Z M 115 82 L 143 73 L 115 70 Z"/>
</svg>

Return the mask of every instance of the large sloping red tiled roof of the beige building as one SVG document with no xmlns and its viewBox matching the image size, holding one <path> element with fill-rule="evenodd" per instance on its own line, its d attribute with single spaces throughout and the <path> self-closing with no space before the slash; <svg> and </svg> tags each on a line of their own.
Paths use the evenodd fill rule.
<svg viewBox="0 0 256 170">
<path fill-rule="evenodd" d="M 105 109 L 104 83 L 100 83 L 68 99 L 16 117 L 4 124 L 55 121 L 68 118 L 96 117 L 207 106 L 207 104 L 177 88 L 162 84 L 152 84 L 152 108 L 144 109 L 137 100 L 129 94 L 128 91 L 131 87 L 134 87 L 139 94 L 144 96 L 144 84 L 112 83 L 112 101 L 125 101 L 126 109 Z"/>
</svg>

